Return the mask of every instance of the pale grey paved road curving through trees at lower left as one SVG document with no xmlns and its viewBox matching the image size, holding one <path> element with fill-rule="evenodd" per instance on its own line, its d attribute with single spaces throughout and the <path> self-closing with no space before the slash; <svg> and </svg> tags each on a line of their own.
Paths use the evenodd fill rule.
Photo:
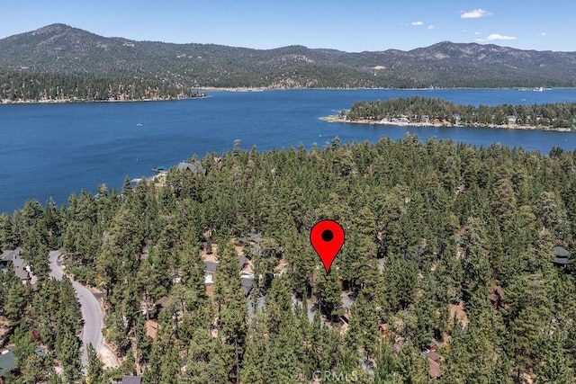
<svg viewBox="0 0 576 384">
<path fill-rule="evenodd" d="M 59 251 L 50 252 L 50 276 L 57 280 L 61 280 L 64 276 L 62 268 L 58 264 Z M 98 300 L 94 297 L 90 290 L 87 290 L 78 281 L 72 281 L 72 286 L 76 290 L 76 296 L 80 301 L 82 309 L 82 317 L 84 318 L 84 332 L 82 335 L 82 364 L 87 366 L 88 354 L 87 345 L 94 345 L 97 353 L 102 350 L 102 328 L 103 328 L 103 314 L 98 304 Z"/>
</svg>

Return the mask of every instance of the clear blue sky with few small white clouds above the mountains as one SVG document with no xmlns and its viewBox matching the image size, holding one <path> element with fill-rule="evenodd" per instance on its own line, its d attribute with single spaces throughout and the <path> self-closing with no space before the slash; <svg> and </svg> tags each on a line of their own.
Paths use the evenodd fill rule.
<svg viewBox="0 0 576 384">
<path fill-rule="evenodd" d="M 409 50 L 439 41 L 576 51 L 574 0 L 26 0 L 0 38 L 62 22 L 106 37 L 274 49 Z"/>
</svg>

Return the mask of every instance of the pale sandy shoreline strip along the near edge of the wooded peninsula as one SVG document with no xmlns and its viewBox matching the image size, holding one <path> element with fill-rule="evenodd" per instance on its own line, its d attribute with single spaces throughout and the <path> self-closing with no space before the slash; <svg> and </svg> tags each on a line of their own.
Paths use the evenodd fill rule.
<svg viewBox="0 0 576 384">
<path fill-rule="evenodd" d="M 368 125 L 392 125 L 395 127 L 420 127 L 420 128 L 495 128 L 495 129 L 522 129 L 522 130 L 551 130 L 554 132 L 572 132 L 571 128 L 553 128 L 546 126 L 532 126 L 532 125 L 517 125 L 517 124 L 475 124 L 469 125 L 458 125 L 452 124 L 450 121 L 445 122 L 399 122 L 399 121 L 374 121 L 374 120 L 355 120 L 350 121 L 347 119 L 342 119 L 338 115 L 324 116 L 320 118 L 321 121 L 327 122 L 339 122 L 347 124 L 368 124 Z"/>
</svg>

